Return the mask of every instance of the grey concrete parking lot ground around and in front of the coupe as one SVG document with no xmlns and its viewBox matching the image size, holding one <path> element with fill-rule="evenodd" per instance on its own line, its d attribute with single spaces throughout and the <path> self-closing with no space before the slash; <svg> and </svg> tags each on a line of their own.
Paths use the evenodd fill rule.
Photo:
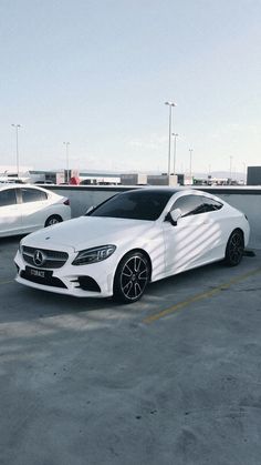
<svg viewBox="0 0 261 465">
<path fill-rule="evenodd" d="M 0 240 L 0 463 L 261 463 L 261 250 L 142 301 L 17 284 Z"/>
</svg>

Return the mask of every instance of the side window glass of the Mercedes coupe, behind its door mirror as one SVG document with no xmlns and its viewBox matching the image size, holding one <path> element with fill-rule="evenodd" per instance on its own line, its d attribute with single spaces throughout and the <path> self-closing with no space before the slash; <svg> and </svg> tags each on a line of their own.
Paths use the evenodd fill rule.
<svg viewBox="0 0 261 465">
<path fill-rule="evenodd" d="M 179 198 L 173 209 L 180 209 L 182 216 L 213 212 L 222 208 L 222 203 L 203 195 L 184 195 Z"/>
</svg>

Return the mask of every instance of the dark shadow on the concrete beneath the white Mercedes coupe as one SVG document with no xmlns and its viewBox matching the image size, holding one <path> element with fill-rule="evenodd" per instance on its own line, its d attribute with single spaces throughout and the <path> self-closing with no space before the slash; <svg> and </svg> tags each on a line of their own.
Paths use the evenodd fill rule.
<svg viewBox="0 0 261 465">
<path fill-rule="evenodd" d="M 2 239 L 1 245 L 18 245 L 18 240 Z M 10 284 L 13 292 L 4 294 L 6 302 L 1 305 L 0 323 L 31 321 L 61 315 L 94 315 L 100 313 L 98 320 L 129 315 L 140 315 L 155 309 L 164 309 L 166 302 L 176 304 L 180 296 L 196 294 L 222 284 L 227 279 L 232 279 L 238 273 L 244 273 L 252 257 L 246 256 L 242 264 L 223 273 L 228 267 L 223 262 L 216 262 L 197 270 L 190 270 L 175 276 L 150 283 L 143 299 L 134 304 L 118 304 L 113 299 L 73 297 L 64 294 L 49 293 L 18 283 Z M 14 291 L 15 286 L 15 291 Z"/>
</svg>

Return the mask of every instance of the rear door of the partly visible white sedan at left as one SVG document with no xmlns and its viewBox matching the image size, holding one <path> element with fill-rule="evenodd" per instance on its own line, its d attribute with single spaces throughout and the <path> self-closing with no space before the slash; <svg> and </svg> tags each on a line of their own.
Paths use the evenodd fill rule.
<svg viewBox="0 0 261 465">
<path fill-rule="evenodd" d="M 40 189 L 28 186 L 22 186 L 19 191 L 23 231 L 29 232 L 43 228 L 46 219 L 45 209 L 49 205 L 48 194 Z"/>
</svg>

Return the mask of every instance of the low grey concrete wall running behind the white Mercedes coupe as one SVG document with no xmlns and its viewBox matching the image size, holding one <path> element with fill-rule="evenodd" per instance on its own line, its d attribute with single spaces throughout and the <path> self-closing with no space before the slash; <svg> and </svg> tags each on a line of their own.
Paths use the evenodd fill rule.
<svg viewBox="0 0 261 465">
<path fill-rule="evenodd" d="M 46 188 L 46 185 L 44 185 Z M 136 186 L 86 186 L 86 185 L 50 185 L 48 189 L 59 193 L 60 195 L 67 196 L 72 206 L 72 216 L 76 218 L 86 212 L 92 205 L 115 195 L 118 192 L 137 189 Z M 249 246 L 253 249 L 261 249 L 261 188 L 258 186 L 220 186 L 220 188 L 205 188 L 198 186 L 200 191 L 207 191 L 232 206 L 241 210 L 249 220 L 251 228 Z"/>
</svg>

